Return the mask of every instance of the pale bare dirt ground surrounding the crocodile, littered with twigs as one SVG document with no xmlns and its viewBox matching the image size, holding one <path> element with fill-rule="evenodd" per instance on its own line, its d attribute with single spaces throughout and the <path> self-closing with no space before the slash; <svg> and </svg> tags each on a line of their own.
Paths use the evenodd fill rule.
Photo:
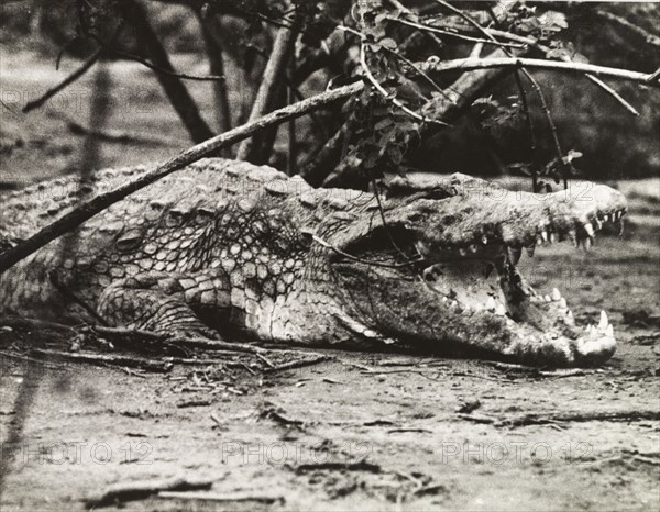
<svg viewBox="0 0 660 512">
<path fill-rule="evenodd" d="M 58 79 L 50 64 L 6 57 L 1 96 L 16 111 L 7 91 L 34 97 Z M 112 76 L 162 101 L 139 68 Z M 116 109 L 111 126 L 180 138 L 174 114 L 145 111 Z M 11 118 L 25 145 L 1 163 L 7 187 L 75 168 L 81 141 L 57 112 Z M 100 162 L 186 144 L 107 144 Z M 169 371 L 142 371 L 38 363 L 28 350 L 62 348 L 62 333 L 0 330 L 2 511 L 78 510 L 110 485 L 174 477 L 207 486 L 124 510 L 658 510 L 660 181 L 617 186 L 631 210 L 623 237 L 521 261 L 534 286 L 562 291 L 578 322 L 607 311 L 618 349 L 595 370 L 328 350 L 318 360 L 270 347 L 265 359 L 217 353 L 216 364 L 179 357 Z"/>
</svg>

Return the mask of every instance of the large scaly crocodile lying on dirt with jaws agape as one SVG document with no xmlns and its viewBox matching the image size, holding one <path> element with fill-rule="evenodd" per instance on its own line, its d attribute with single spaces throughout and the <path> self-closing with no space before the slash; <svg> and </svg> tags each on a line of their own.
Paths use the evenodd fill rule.
<svg viewBox="0 0 660 512">
<path fill-rule="evenodd" d="M 0 242 L 15 244 L 150 168 L 8 192 Z M 516 267 L 524 248 L 588 247 L 627 212 L 609 187 L 571 191 L 512 192 L 461 174 L 396 177 L 369 192 L 315 189 L 267 166 L 201 159 L 7 270 L 0 312 L 164 335 L 601 365 L 616 346 L 606 313 L 576 326 L 559 290 L 538 293 Z"/>
</svg>

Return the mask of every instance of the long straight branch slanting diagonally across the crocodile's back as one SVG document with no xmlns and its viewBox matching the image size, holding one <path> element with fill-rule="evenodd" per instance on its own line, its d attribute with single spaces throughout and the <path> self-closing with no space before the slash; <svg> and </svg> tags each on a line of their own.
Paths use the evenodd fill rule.
<svg viewBox="0 0 660 512">
<path fill-rule="evenodd" d="M 305 115 L 311 110 L 319 109 L 323 105 L 349 98 L 356 92 L 360 92 L 364 84 L 362 81 L 340 87 L 338 89 L 314 96 L 298 103 L 278 109 L 252 123 L 238 126 L 229 132 L 217 135 L 208 141 L 197 144 L 188 149 L 179 153 L 170 158 L 165 164 L 158 166 L 141 177 L 125 182 L 116 189 L 96 196 L 95 198 L 80 203 L 77 208 L 66 213 L 55 222 L 42 227 L 37 233 L 16 244 L 15 247 L 9 248 L 0 254 L 0 274 L 15 265 L 24 257 L 40 249 L 48 242 L 57 236 L 74 230 L 82 222 L 87 221 L 97 213 L 103 211 L 110 204 L 113 204 L 130 193 L 140 190 L 147 185 L 178 170 L 186 165 L 208 155 L 217 149 L 230 146 L 239 141 L 242 141 L 253 133 L 264 130 L 268 126 L 282 124 L 289 119 Z"/>
</svg>

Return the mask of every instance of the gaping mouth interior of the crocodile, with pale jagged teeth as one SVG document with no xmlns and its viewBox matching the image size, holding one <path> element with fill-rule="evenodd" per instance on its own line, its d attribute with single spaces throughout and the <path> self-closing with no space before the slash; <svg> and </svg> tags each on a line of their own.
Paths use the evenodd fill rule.
<svg viewBox="0 0 660 512">
<path fill-rule="evenodd" d="M 440 296 L 442 303 L 462 315 L 493 315 L 508 331 L 527 342 L 565 346 L 569 358 L 582 364 L 601 364 L 612 356 L 616 341 L 607 313 L 596 325 L 576 326 L 573 312 L 558 288 L 541 293 L 526 282 L 516 265 L 522 248 L 534 256 L 537 246 L 572 241 L 588 249 L 604 223 L 619 223 L 624 210 L 594 215 L 579 230 L 551 223 L 539 226 L 525 247 L 508 246 L 496 236 L 482 236 L 481 244 L 455 247 L 436 256 L 436 263 L 422 271 L 426 286 Z M 476 318 L 476 316 L 475 316 Z"/>
</svg>

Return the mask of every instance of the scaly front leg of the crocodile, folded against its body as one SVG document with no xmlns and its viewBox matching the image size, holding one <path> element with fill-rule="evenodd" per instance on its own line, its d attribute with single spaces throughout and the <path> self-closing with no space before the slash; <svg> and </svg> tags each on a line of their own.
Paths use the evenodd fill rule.
<svg viewBox="0 0 660 512">
<path fill-rule="evenodd" d="M 222 275 L 146 272 L 110 285 L 99 299 L 98 313 L 110 324 L 128 329 L 218 337 L 200 314 L 217 316 L 227 311 L 229 297 L 229 281 Z"/>
</svg>

